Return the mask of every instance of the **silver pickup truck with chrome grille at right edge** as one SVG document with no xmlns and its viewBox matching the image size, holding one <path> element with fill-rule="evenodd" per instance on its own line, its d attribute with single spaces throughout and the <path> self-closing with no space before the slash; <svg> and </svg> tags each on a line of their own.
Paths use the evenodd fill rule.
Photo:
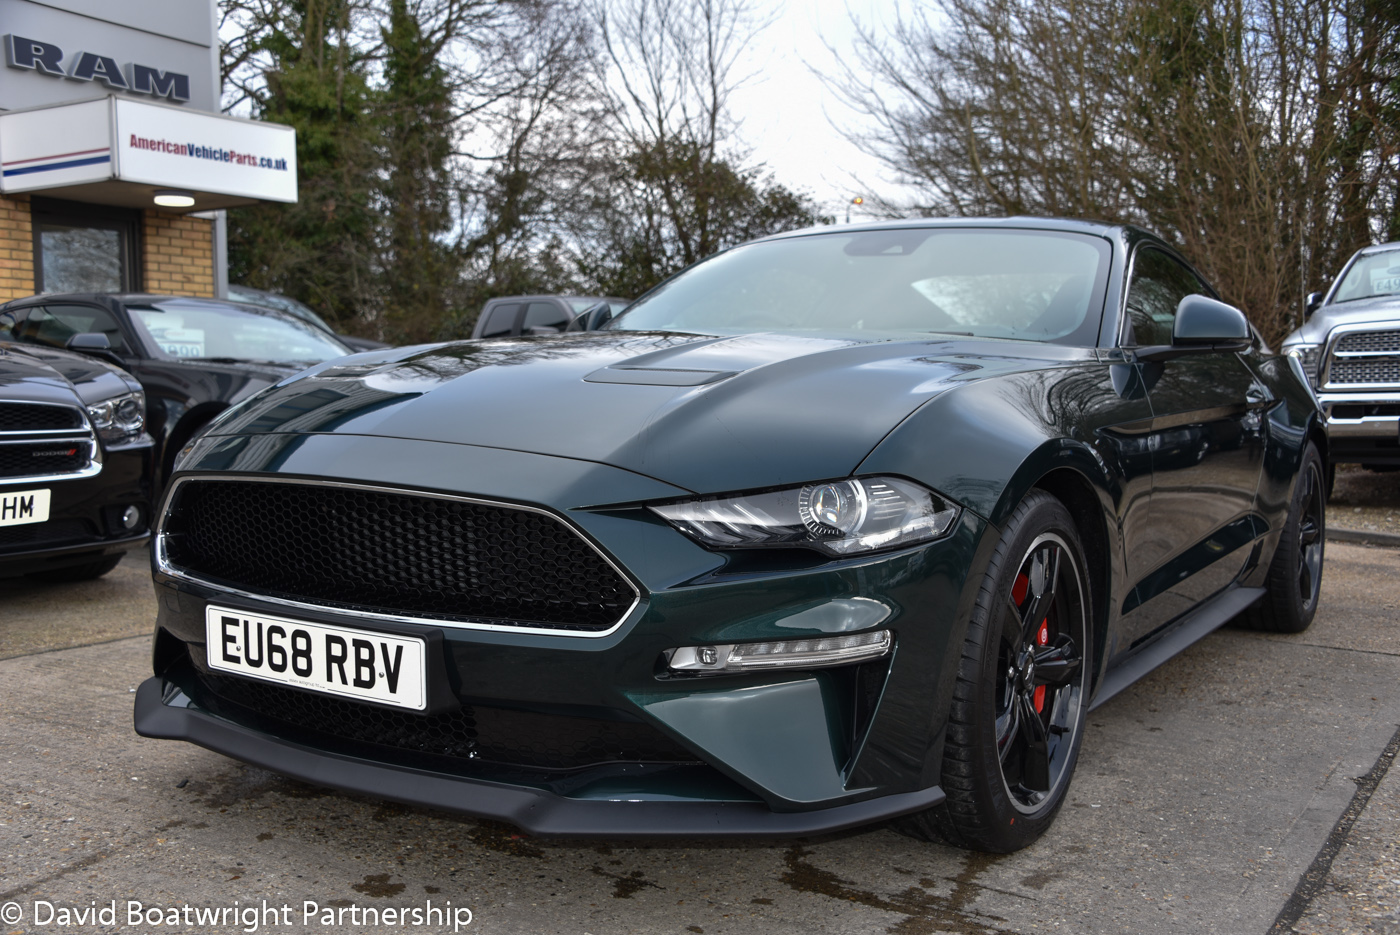
<svg viewBox="0 0 1400 935">
<path fill-rule="evenodd" d="M 1400 466 L 1400 242 L 1358 251 L 1284 339 L 1326 419 L 1333 463 Z"/>
</svg>

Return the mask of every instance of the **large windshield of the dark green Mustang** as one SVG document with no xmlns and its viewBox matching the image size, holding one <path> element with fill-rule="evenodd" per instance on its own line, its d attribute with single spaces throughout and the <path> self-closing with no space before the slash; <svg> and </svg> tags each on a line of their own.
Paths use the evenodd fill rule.
<svg viewBox="0 0 1400 935">
<path fill-rule="evenodd" d="M 932 332 L 1092 346 L 1110 248 L 1051 231 L 913 228 L 749 244 L 634 302 L 610 330 Z"/>
</svg>

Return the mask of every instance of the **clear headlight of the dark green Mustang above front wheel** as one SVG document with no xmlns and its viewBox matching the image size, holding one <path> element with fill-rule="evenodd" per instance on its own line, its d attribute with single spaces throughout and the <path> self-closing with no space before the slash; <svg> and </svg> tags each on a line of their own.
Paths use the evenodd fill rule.
<svg viewBox="0 0 1400 935">
<path fill-rule="evenodd" d="M 958 507 L 899 477 L 853 477 L 762 494 L 652 507 L 711 549 L 809 547 L 833 556 L 942 536 Z"/>
</svg>

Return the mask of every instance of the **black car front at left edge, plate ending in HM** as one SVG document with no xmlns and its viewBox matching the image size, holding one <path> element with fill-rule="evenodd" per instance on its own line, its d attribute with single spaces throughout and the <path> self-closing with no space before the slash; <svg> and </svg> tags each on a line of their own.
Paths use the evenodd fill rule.
<svg viewBox="0 0 1400 935">
<path fill-rule="evenodd" d="M 0 578 L 95 578 L 150 540 L 144 424 L 116 367 L 0 342 Z"/>
</svg>

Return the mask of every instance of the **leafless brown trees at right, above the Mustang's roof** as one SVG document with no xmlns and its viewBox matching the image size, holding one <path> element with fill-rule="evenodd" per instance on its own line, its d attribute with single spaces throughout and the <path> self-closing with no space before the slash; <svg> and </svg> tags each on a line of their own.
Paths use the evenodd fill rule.
<svg viewBox="0 0 1400 935">
<path fill-rule="evenodd" d="M 886 210 L 1141 223 L 1280 337 L 1394 217 L 1393 7 L 938 0 L 833 84 L 914 186 Z"/>
</svg>

